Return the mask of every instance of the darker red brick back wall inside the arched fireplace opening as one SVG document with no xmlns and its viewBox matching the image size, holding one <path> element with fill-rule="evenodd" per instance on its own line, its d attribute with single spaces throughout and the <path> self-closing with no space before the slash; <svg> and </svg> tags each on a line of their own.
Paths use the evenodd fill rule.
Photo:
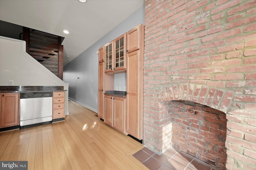
<svg viewBox="0 0 256 170">
<path fill-rule="evenodd" d="M 202 104 L 172 101 L 171 146 L 216 168 L 226 165 L 226 115 Z"/>
</svg>

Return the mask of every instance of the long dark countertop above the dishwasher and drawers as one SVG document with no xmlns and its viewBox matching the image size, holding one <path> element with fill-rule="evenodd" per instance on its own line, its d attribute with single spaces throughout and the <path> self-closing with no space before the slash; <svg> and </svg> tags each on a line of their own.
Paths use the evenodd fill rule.
<svg viewBox="0 0 256 170">
<path fill-rule="evenodd" d="M 1 93 L 63 92 L 63 86 L 0 86 Z"/>
</svg>

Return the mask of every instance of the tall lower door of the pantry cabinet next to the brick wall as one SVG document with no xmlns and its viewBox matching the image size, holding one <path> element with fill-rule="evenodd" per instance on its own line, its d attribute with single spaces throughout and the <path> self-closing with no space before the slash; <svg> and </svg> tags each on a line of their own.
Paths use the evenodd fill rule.
<svg viewBox="0 0 256 170">
<path fill-rule="evenodd" d="M 138 109 L 138 51 L 127 54 L 127 112 L 126 132 L 138 138 L 139 133 L 139 109 Z"/>
</svg>

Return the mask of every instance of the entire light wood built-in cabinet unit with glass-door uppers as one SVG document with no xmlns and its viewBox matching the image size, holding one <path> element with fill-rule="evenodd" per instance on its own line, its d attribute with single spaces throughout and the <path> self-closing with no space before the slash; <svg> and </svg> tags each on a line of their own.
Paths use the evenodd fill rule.
<svg viewBox="0 0 256 170">
<path fill-rule="evenodd" d="M 139 140 L 143 138 L 143 62 L 142 24 L 99 49 L 98 117 Z M 114 90 L 114 74 L 120 72 L 126 72 L 126 98 L 112 100 L 104 93 Z"/>
</svg>

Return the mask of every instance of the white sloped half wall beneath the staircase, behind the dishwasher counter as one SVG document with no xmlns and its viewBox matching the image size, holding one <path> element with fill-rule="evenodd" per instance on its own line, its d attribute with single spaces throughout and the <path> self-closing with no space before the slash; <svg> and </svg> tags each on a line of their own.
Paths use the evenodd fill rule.
<svg viewBox="0 0 256 170">
<path fill-rule="evenodd" d="M 0 36 L 0 86 L 64 86 L 65 115 L 68 115 L 68 83 L 26 53 L 26 42 Z"/>
</svg>

